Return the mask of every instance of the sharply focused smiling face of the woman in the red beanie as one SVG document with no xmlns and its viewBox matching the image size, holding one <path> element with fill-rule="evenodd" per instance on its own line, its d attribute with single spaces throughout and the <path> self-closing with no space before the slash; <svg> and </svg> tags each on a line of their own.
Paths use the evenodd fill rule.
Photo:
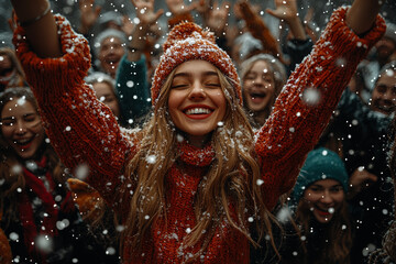
<svg viewBox="0 0 396 264">
<path fill-rule="evenodd" d="M 189 61 L 175 72 L 168 98 L 172 121 L 201 146 L 226 114 L 226 97 L 216 67 L 206 61 Z"/>
</svg>

